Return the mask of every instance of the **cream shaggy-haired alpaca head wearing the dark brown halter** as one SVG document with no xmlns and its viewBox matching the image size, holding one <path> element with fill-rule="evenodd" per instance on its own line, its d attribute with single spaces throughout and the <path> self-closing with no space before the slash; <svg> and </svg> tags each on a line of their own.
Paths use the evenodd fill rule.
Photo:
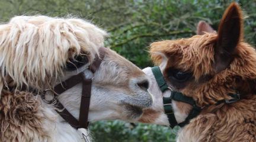
<svg viewBox="0 0 256 142">
<path fill-rule="evenodd" d="M 92 79 L 89 120 L 133 121 L 152 104 L 148 78 L 110 49 L 93 74 L 88 70 L 104 46 L 105 31 L 77 18 L 19 16 L 0 25 L 0 92 L 44 91 L 83 72 Z M 82 85 L 59 100 L 78 118 Z"/>
</svg>

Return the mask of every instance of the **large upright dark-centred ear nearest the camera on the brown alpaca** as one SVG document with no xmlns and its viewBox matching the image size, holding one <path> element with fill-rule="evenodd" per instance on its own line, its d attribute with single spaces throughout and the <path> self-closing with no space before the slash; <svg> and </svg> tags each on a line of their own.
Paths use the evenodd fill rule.
<svg viewBox="0 0 256 142">
<path fill-rule="evenodd" d="M 219 24 L 215 47 L 215 70 L 220 72 L 233 60 L 236 46 L 242 36 L 242 11 L 238 4 L 233 2 L 226 9 Z"/>
</svg>

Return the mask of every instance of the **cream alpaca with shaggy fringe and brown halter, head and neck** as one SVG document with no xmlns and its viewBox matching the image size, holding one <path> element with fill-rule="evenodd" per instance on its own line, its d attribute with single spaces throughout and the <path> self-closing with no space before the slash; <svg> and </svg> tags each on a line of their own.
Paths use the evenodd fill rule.
<svg viewBox="0 0 256 142">
<path fill-rule="evenodd" d="M 110 49 L 94 74 L 88 69 L 105 35 L 76 18 L 19 16 L 0 25 L 0 141 L 84 141 L 40 93 L 81 72 L 93 77 L 89 121 L 139 120 L 152 104 L 142 70 Z M 88 62 L 76 66 L 78 56 Z M 58 96 L 76 119 L 81 91 L 79 83 Z"/>
</svg>

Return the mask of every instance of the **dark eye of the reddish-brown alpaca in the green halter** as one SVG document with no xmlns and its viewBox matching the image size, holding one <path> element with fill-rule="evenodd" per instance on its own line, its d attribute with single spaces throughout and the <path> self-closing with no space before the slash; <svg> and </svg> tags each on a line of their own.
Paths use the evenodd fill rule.
<svg viewBox="0 0 256 142">
<path fill-rule="evenodd" d="M 191 72 L 183 72 L 181 70 L 171 70 L 171 72 L 169 72 L 169 78 L 175 79 L 178 82 L 185 82 L 191 77 Z"/>
</svg>

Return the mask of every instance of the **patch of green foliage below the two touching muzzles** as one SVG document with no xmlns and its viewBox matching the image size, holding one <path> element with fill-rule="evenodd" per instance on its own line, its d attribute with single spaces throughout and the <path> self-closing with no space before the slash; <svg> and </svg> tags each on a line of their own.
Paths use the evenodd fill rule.
<svg viewBox="0 0 256 142">
<path fill-rule="evenodd" d="M 123 121 L 101 121 L 91 125 L 94 140 L 105 142 L 128 141 L 175 141 L 175 135 L 169 127 L 159 125 L 136 124 Z"/>
</svg>

